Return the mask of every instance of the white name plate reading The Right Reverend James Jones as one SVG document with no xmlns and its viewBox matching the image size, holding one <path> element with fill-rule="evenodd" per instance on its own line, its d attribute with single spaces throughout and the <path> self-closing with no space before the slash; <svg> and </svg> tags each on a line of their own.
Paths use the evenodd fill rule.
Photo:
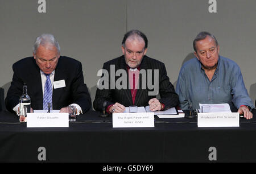
<svg viewBox="0 0 256 174">
<path fill-rule="evenodd" d="M 154 113 L 113 113 L 113 127 L 155 127 Z"/>
</svg>

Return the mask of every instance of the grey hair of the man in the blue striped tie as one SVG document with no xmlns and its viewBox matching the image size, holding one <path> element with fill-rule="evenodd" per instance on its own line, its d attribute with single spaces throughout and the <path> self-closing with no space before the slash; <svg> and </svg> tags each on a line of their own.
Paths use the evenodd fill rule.
<svg viewBox="0 0 256 174">
<path fill-rule="evenodd" d="M 55 46 L 57 48 L 58 53 L 60 53 L 60 45 L 52 34 L 42 34 L 38 36 L 33 45 L 33 53 L 36 53 L 39 45 L 47 44 Z"/>
</svg>

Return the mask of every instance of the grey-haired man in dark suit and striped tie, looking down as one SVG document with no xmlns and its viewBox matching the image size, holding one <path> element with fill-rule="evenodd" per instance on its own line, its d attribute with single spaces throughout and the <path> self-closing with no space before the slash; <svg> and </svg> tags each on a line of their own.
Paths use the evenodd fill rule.
<svg viewBox="0 0 256 174">
<path fill-rule="evenodd" d="M 35 110 L 51 108 L 68 112 L 68 105 L 76 106 L 77 114 L 85 113 L 91 107 L 91 100 L 79 61 L 60 56 L 60 47 L 51 34 L 36 38 L 33 57 L 27 57 L 13 64 L 13 81 L 7 92 L 6 108 L 19 113 L 19 98 L 23 84 Z"/>
</svg>

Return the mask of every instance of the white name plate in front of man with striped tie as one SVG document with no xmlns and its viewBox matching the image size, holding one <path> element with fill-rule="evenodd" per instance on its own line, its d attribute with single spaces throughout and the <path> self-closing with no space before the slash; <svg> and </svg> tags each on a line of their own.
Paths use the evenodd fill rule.
<svg viewBox="0 0 256 174">
<path fill-rule="evenodd" d="M 27 127 L 69 127 L 68 113 L 27 113 Z"/>
</svg>

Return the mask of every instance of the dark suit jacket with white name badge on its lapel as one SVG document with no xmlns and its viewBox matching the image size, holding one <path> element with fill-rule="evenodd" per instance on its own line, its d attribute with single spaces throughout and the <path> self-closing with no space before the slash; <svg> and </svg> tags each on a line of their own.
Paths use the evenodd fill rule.
<svg viewBox="0 0 256 174">
<path fill-rule="evenodd" d="M 41 74 L 34 57 L 27 57 L 13 64 L 13 81 L 6 96 L 6 109 L 14 112 L 13 107 L 19 103 L 22 95 L 23 83 L 27 84 L 28 96 L 31 98 L 31 107 L 35 110 L 43 109 L 43 90 Z M 53 88 L 52 109 L 61 109 L 76 103 L 85 113 L 92 103 L 84 76 L 82 65 L 70 57 L 60 56 L 55 68 L 53 81 L 65 80 L 64 88 Z"/>
</svg>

